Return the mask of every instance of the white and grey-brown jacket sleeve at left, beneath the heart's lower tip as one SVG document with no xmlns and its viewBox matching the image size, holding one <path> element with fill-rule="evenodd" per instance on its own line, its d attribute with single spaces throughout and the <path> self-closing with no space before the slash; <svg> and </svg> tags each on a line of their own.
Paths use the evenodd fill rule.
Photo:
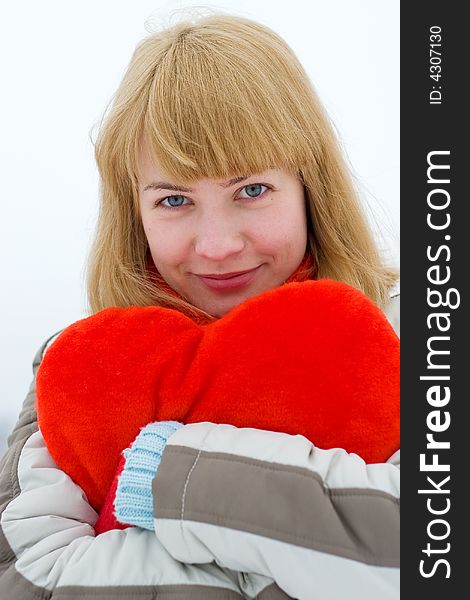
<svg viewBox="0 0 470 600">
<path fill-rule="evenodd" d="M 37 370 L 44 347 L 34 361 Z M 34 382 L 0 463 L 2 600 L 239 600 L 240 574 L 215 564 L 183 565 L 153 532 L 95 536 L 96 513 L 52 460 L 38 430 Z M 259 577 L 260 598 L 275 588 Z"/>
</svg>

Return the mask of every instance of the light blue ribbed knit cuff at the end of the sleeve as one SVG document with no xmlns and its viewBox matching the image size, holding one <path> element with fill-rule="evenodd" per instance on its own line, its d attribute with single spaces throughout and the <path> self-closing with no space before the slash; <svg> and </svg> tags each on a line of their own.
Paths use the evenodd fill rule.
<svg viewBox="0 0 470 600">
<path fill-rule="evenodd" d="M 114 508 L 120 523 L 153 530 L 152 481 L 170 435 L 183 425 L 158 421 L 143 427 L 130 448 L 119 476 Z"/>
</svg>

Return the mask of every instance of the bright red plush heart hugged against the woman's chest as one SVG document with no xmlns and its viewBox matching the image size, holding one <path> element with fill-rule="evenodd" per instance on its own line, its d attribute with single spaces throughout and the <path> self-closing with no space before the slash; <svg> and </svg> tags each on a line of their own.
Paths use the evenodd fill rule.
<svg viewBox="0 0 470 600">
<path fill-rule="evenodd" d="M 399 341 L 364 294 L 327 279 L 288 283 L 208 325 L 110 308 L 49 348 L 37 408 L 51 455 L 97 510 L 120 452 L 151 421 L 300 433 L 379 462 L 399 447 Z"/>
</svg>

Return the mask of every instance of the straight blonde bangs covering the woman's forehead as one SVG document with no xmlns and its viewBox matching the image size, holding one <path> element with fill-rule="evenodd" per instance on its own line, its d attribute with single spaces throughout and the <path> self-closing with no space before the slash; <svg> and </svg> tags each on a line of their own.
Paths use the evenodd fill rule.
<svg viewBox="0 0 470 600">
<path fill-rule="evenodd" d="M 142 133 L 156 164 L 182 182 L 297 171 L 303 133 L 274 69 L 246 40 L 233 56 L 209 42 L 182 37 L 155 71 Z"/>
</svg>

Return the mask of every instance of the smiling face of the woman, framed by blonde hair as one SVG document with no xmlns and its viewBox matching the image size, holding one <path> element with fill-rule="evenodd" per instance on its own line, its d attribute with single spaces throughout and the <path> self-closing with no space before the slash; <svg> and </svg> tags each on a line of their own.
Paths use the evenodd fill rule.
<svg viewBox="0 0 470 600">
<path fill-rule="evenodd" d="M 307 245 L 304 189 L 282 169 L 233 180 L 169 181 L 143 150 L 139 202 L 160 275 L 220 317 L 284 283 Z"/>
</svg>

